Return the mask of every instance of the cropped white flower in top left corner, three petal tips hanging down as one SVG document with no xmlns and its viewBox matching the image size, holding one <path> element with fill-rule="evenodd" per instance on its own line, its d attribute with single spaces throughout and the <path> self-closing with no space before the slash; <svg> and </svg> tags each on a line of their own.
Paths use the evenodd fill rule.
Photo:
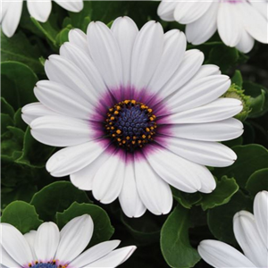
<svg viewBox="0 0 268 268">
<path fill-rule="evenodd" d="M 52 9 L 51 0 L 26 0 L 29 14 L 37 21 L 46 22 Z M 83 0 L 54 0 L 64 9 L 78 13 L 83 9 Z M 23 0 L 1 0 L 0 22 L 4 34 L 11 38 L 21 20 Z"/>
</svg>

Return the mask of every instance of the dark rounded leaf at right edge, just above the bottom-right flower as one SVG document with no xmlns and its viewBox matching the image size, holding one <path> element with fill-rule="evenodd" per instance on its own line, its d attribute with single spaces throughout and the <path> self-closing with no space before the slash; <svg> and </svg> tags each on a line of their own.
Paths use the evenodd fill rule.
<svg viewBox="0 0 268 268">
<path fill-rule="evenodd" d="M 268 191 L 268 168 L 254 172 L 247 180 L 246 188 L 252 197 L 262 191 Z"/>
</svg>

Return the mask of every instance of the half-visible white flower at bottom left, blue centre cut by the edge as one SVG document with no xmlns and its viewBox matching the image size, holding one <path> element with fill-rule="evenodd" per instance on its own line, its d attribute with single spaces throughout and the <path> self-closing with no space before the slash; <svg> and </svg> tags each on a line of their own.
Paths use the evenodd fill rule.
<svg viewBox="0 0 268 268">
<path fill-rule="evenodd" d="M 136 249 L 135 246 L 114 249 L 120 241 L 111 240 L 82 253 L 92 237 L 93 227 L 87 214 L 72 219 L 61 231 L 54 222 L 44 222 L 38 230 L 24 236 L 13 225 L 0 223 L 1 267 L 111 268 L 124 263 Z"/>
</svg>

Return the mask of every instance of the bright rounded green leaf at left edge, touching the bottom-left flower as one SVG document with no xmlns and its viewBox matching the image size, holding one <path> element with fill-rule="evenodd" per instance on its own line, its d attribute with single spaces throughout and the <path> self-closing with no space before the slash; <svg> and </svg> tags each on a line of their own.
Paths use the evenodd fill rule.
<svg viewBox="0 0 268 268">
<path fill-rule="evenodd" d="M 37 230 L 42 223 L 33 205 L 29 205 L 23 201 L 14 201 L 7 205 L 4 209 L 0 222 L 12 224 L 21 233 L 29 232 L 29 230 Z"/>
</svg>

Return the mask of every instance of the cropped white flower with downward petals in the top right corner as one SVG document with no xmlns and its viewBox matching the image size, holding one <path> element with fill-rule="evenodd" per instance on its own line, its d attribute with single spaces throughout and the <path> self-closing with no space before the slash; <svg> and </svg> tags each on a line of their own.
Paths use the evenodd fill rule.
<svg viewBox="0 0 268 268">
<path fill-rule="evenodd" d="M 188 42 L 200 45 L 218 29 L 227 46 L 247 53 L 255 40 L 268 43 L 266 0 L 162 0 L 158 15 L 163 21 L 186 24 Z"/>
</svg>

